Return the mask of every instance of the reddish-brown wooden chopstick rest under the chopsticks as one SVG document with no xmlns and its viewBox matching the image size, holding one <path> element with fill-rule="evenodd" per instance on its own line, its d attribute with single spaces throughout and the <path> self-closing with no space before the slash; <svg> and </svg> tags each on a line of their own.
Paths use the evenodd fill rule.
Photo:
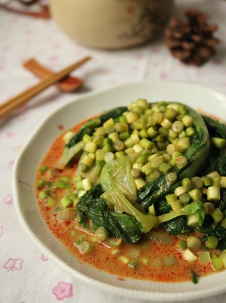
<svg viewBox="0 0 226 303">
<path fill-rule="evenodd" d="M 23 66 L 41 79 L 45 79 L 54 74 L 52 70 L 49 70 L 47 67 L 41 65 L 39 61 L 33 58 L 25 61 Z M 81 85 L 83 85 L 83 80 L 72 76 L 66 76 L 57 83 L 57 86 L 62 92 L 74 92 L 75 90 L 78 90 Z"/>
</svg>

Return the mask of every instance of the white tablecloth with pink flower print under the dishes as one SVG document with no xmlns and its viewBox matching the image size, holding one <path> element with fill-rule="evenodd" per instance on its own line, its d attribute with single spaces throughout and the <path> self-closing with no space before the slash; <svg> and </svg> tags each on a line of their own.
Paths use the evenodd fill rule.
<svg viewBox="0 0 226 303">
<path fill-rule="evenodd" d="M 52 20 L 0 10 L 0 103 L 37 83 L 36 76 L 22 67 L 26 59 L 35 57 L 57 71 L 83 56 L 92 56 L 92 61 L 73 73 L 85 83 L 79 92 L 62 94 L 56 87 L 50 87 L 1 122 L 0 302 L 138 302 L 87 286 L 61 271 L 43 255 L 28 238 L 14 211 L 12 168 L 33 129 L 55 109 L 87 92 L 145 79 L 198 83 L 226 93 L 226 3 L 177 1 L 178 8 L 181 8 L 181 2 L 183 6 L 196 2 L 197 8 L 207 12 L 209 21 L 219 25 L 216 33 L 221 39 L 218 52 L 203 67 L 185 66 L 172 58 L 162 39 L 130 50 L 94 50 L 71 41 Z M 225 295 L 198 302 L 225 302 Z"/>
</svg>

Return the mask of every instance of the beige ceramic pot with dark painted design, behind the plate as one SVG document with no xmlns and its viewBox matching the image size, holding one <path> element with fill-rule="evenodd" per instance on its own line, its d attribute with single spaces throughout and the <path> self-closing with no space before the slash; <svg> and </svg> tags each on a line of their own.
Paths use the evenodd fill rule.
<svg viewBox="0 0 226 303">
<path fill-rule="evenodd" d="M 127 48 L 163 29 L 174 0 L 50 0 L 59 27 L 94 48 Z"/>
</svg>

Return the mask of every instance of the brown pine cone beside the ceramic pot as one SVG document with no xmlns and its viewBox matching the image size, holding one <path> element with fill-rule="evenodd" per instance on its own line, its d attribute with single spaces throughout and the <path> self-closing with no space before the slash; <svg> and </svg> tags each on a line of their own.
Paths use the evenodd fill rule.
<svg viewBox="0 0 226 303">
<path fill-rule="evenodd" d="M 219 40 L 214 38 L 213 33 L 218 26 L 208 24 L 206 15 L 197 10 L 185 10 L 183 14 L 187 21 L 176 17 L 170 20 L 169 27 L 165 29 L 165 45 L 183 63 L 203 65 L 215 54 L 215 46 Z"/>
</svg>

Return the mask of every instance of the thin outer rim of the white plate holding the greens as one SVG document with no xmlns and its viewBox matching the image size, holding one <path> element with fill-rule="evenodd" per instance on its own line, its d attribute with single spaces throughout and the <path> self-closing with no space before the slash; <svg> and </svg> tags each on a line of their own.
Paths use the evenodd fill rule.
<svg viewBox="0 0 226 303">
<path fill-rule="evenodd" d="M 100 282 L 98 280 L 95 280 L 94 278 L 90 278 L 87 275 L 83 273 L 79 273 L 79 271 L 76 271 L 75 269 L 71 269 L 68 264 L 65 264 L 59 257 L 54 255 L 50 249 L 45 247 L 45 244 L 39 240 L 37 235 L 30 229 L 30 226 L 28 222 L 25 220 L 22 210 L 21 210 L 21 202 L 19 201 L 19 191 L 17 187 L 19 186 L 19 182 L 17 181 L 17 173 L 19 171 L 19 164 L 21 162 L 21 158 L 23 154 L 25 154 L 25 151 L 28 149 L 30 145 L 30 141 L 34 136 L 36 136 L 39 133 L 39 130 L 45 125 L 45 123 L 52 118 L 55 114 L 60 112 L 65 107 L 70 107 L 72 103 L 76 103 L 80 100 L 83 100 L 84 98 L 88 98 L 90 96 L 96 96 L 98 94 L 101 94 L 102 92 L 112 91 L 120 87 L 130 87 L 130 85 L 142 85 L 145 83 L 149 83 L 150 85 L 173 85 L 173 86 L 189 86 L 189 87 L 195 87 L 200 90 L 205 90 L 206 92 L 217 94 L 218 96 L 221 96 L 223 98 L 226 98 L 226 96 L 218 92 L 216 90 L 212 90 L 209 87 L 205 87 L 202 85 L 196 85 L 194 83 L 186 83 L 186 82 L 171 82 L 171 81 L 132 81 L 132 82 L 125 82 L 119 85 L 114 85 L 112 87 L 107 87 L 101 90 L 96 90 L 94 92 L 88 92 L 87 94 L 83 96 L 79 96 L 75 100 L 69 101 L 66 104 L 61 105 L 59 108 L 55 109 L 51 114 L 48 114 L 47 117 L 43 118 L 41 122 L 39 122 L 39 125 L 34 129 L 34 131 L 30 134 L 28 139 L 25 141 L 21 151 L 19 152 L 17 159 L 14 163 L 13 171 L 12 171 L 12 196 L 14 199 L 14 207 L 17 213 L 17 217 L 19 218 L 20 224 L 23 226 L 23 229 L 25 229 L 25 232 L 28 234 L 28 236 L 32 239 L 32 241 L 47 255 L 54 264 L 56 264 L 58 267 L 63 269 L 63 271 L 66 271 L 70 275 L 72 275 L 74 278 L 78 278 L 82 282 L 85 282 L 85 284 L 88 284 L 90 286 L 96 286 L 98 289 L 102 291 L 107 291 L 108 293 L 111 293 L 113 295 L 121 295 L 123 297 L 131 297 L 138 300 L 158 300 L 158 301 L 173 301 L 173 300 L 194 300 L 199 298 L 205 298 L 213 295 L 220 295 L 221 293 L 224 293 L 226 291 L 226 287 L 223 285 L 215 286 L 214 289 L 199 289 L 199 290 L 193 290 L 193 291 L 185 291 L 181 293 L 167 293 L 167 292 L 153 292 L 153 291 L 139 291 L 134 289 L 126 289 L 120 287 L 120 286 L 114 286 L 112 284 L 108 284 L 105 282 Z M 97 269 L 98 270 L 98 269 Z M 226 271 L 226 269 L 225 269 Z M 151 281 L 153 282 L 153 281 Z M 166 284 L 167 282 L 153 282 L 153 283 L 163 283 Z M 177 284 L 183 283 L 183 282 L 176 282 Z M 167 283 L 168 284 L 168 283 Z M 175 284 L 175 283 L 172 283 Z"/>
</svg>

